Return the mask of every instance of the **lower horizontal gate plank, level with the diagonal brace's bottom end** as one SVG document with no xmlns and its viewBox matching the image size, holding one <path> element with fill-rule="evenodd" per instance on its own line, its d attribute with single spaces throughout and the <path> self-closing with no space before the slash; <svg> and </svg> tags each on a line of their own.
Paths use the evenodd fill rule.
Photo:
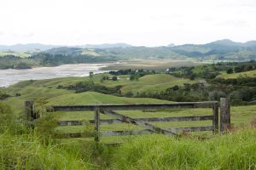
<svg viewBox="0 0 256 170">
<path fill-rule="evenodd" d="M 197 131 L 212 131 L 213 128 L 214 128 L 213 126 L 178 127 L 178 128 L 172 128 L 172 130 L 177 133 L 183 133 L 183 132 L 197 132 Z M 153 133 L 153 132 L 148 129 L 143 129 L 143 130 L 137 130 L 137 131 L 102 131 L 100 132 L 100 135 L 108 137 L 108 136 L 140 135 L 140 134 L 150 134 L 150 133 Z M 69 138 L 82 138 L 84 136 L 93 137 L 93 136 L 88 136 L 88 134 L 86 133 L 61 133 L 59 136 L 69 137 Z"/>
</svg>

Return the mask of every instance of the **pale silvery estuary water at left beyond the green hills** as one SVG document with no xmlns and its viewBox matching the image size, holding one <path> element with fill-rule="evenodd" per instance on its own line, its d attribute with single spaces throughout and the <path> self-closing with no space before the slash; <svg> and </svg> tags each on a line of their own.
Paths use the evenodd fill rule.
<svg viewBox="0 0 256 170">
<path fill-rule="evenodd" d="M 0 70 L 0 87 L 8 87 L 16 82 L 25 80 L 40 80 L 56 77 L 86 77 L 90 71 L 102 73 L 100 68 L 104 64 L 78 64 L 78 65 L 60 65 L 55 67 L 38 67 L 26 70 Z"/>
</svg>

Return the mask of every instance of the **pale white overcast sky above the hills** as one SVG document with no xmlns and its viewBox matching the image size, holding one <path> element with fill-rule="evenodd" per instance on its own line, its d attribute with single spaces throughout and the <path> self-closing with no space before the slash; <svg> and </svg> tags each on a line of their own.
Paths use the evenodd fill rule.
<svg viewBox="0 0 256 170">
<path fill-rule="evenodd" d="M 0 44 L 256 40 L 256 0 L 0 0 Z"/>
</svg>

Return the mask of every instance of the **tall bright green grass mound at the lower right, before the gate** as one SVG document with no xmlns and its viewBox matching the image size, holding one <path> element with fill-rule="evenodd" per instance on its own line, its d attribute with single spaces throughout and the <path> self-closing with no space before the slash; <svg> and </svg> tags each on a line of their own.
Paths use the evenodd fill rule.
<svg viewBox="0 0 256 170">
<path fill-rule="evenodd" d="M 120 146 L 113 169 L 255 169 L 256 130 L 212 139 L 141 136 Z"/>
</svg>

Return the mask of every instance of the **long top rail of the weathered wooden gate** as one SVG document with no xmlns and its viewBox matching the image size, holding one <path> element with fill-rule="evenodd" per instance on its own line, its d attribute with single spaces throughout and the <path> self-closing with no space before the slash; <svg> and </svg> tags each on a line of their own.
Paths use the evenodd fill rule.
<svg viewBox="0 0 256 170">
<path fill-rule="evenodd" d="M 177 109 L 177 108 L 198 108 L 212 107 L 218 101 L 206 102 L 179 102 L 172 104 L 101 104 L 101 105 L 54 105 L 54 111 L 95 111 L 95 108 L 103 108 L 113 111 L 119 110 L 154 110 L 154 109 Z"/>
</svg>

